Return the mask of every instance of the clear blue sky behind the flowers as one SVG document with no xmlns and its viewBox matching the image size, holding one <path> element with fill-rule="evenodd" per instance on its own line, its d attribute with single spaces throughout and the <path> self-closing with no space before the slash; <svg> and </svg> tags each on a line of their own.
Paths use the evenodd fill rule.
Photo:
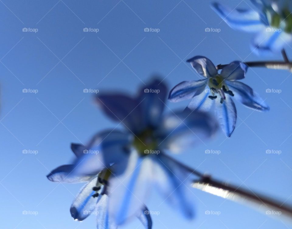
<svg viewBox="0 0 292 229">
<path fill-rule="evenodd" d="M 252 6 L 239 0 L 221 3 Z M 46 178 L 49 170 L 73 159 L 71 142 L 86 143 L 94 133 L 116 126 L 95 107 L 94 94 L 83 93 L 84 89 L 134 93 L 141 81 L 147 82 L 155 73 L 166 77 L 171 89 L 181 81 L 199 79 L 185 63 L 195 55 L 207 56 L 215 64 L 263 59 L 249 49 L 252 34 L 229 28 L 209 4 L 209 0 L 0 2 L 2 228 L 96 227 L 94 216 L 80 223 L 69 213 L 82 184 L 57 184 Z M 83 32 L 83 28 L 99 31 Z M 144 28 L 160 31 L 144 32 Z M 221 31 L 205 32 L 205 28 Z M 292 58 L 292 50 L 287 53 Z M 249 69 L 243 82 L 266 99 L 270 111 L 259 113 L 236 103 L 238 121 L 230 139 L 219 131 L 206 145 L 175 157 L 216 178 L 292 204 L 291 81 L 287 71 Z M 38 92 L 23 93 L 23 89 Z M 266 89 L 281 93 L 266 93 Z M 186 105 L 187 101 L 168 104 L 171 109 Z M 23 150 L 38 153 L 24 154 Z M 221 153 L 205 154 L 205 150 Z M 266 154 L 266 150 L 281 150 L 281 154 Z M 154 228 L 289 225 L 249 207 L 190 190 L 197 209 L 192 221 L 152 194 L 147 205 L 160 212 L 152 216 Z M 206 210 L 221 214 L 206 215 Z M 143 228 L 139 224 L 134 220 L 121 228 Z"/>
</svg>

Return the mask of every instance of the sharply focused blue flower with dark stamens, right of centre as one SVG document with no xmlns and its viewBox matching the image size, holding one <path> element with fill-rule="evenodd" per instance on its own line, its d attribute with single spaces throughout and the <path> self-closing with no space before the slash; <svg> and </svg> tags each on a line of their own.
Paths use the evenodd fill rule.
<svg viewBox="0 0 292 229">
<path fill-rule="evenodd" d="M 169 92 L 169 100 L 179 102 L 191 99 L 188 108 L 200 111 L 209 111 L 215 103 L 215 116 L 226 136 L 231 136 L 237 118 L 235 104 L 231 97 L 257 111 L 269 110 L 266 103 L 252 88 L 237 81 L 245 77 L 247 65 L 244 63 L 231 62 L 218 73 L 217 68 L 206 57 L 195 56 L 187 62 L 190 62 L 196 72 L 206 79 L 179 83 Z"/>
</svg>

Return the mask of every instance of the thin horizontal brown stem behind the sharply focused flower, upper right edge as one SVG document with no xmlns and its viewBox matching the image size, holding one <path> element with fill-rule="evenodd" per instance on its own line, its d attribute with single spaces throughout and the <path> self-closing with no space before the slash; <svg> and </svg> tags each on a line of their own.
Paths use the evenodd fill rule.
<svg viewBox="0 0 292 229">
<path fill-rule="evenodd" d="M 251 62 L 243 62 L 247 66 L 251 67 L 264 67 L 268 69 L 283 69 L 292 72 L 292 62 L 286 61 L 251 61 Z M 217 69 L 223 69 L 226 65 L 217 65 Z"/>
</svg>

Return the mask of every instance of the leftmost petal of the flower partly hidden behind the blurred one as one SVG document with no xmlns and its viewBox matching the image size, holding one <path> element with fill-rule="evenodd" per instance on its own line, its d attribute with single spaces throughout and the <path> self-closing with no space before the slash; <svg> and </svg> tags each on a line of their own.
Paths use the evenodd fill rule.
<svg viewBox="0 0 292 229">
<path fill-rule="evenodd" d="M 74 169 L 74 165 L 62 165 L 55 168 L 50 174 L 47 175 L 47 178 L 50 181 L 54 182 L 68 182 L 68 183 L 78 183 L 78 182 L 85 182 L 92 179 L 92 176 L 70 176 L 72 170 Z"/>
</svg>

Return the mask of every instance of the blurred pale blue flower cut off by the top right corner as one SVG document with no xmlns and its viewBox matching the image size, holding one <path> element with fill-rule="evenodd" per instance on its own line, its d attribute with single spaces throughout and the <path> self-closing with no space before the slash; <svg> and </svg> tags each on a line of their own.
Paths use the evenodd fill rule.
<svg viewBox="0 0 292 229">
<path fill-rule="evenodd" d="M 257 11 L 231 9 L 217 2 L 211 7 L 231 28 L 257 33 L 251 42 L 256 54 L 271 54 L 288 47 L 292 41 L 291 1 L 251 1 Z"/>
</svg>

